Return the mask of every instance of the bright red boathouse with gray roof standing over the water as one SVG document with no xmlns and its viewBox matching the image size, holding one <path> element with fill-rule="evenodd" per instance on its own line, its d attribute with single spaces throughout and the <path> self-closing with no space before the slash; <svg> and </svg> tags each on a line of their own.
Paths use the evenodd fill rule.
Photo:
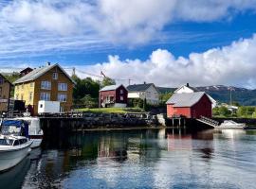
<svg viewBox="0 0 256 189">
<path fill-rule="evenodd" d="M 166 102 L 167 116 L 185 116 L 187 118 L 211 117 L 211 101 L 204 92 L 173 94 Z"/>
</svg>

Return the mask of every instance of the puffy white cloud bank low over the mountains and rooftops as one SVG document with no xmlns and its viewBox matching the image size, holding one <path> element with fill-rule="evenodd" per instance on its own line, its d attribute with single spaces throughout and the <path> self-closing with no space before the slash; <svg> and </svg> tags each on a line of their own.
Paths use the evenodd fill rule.
<svg viewBox="0 0 256 189">
<path fill-rule="evenodd" d="M 102 70 L 113 78 L 128 84 L 154 82 L 156 85 L 177 87 L 190 82 L 195 86 L 226 84 L 256 87 L 256 35 L 222 48 L 213 48 L 204 53 L 192 53 L 189 59 L 174 55 L 164 49 L 155 50 L 148 60 L 120 60 L 109 56 L 108 62 L 83 67 L 89 73 Z"/>
</svg>

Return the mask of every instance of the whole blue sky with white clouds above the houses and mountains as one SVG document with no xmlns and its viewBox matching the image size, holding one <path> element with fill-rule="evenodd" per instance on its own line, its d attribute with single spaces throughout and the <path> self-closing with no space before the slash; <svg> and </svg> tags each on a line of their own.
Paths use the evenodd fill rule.
<svg viewBox="0 0 256 189">
<path fill-rule="evenodd" d="M 0 71 L 255 89 L 255 33 L 256 0 L 0 0 Z"/>
</svg>

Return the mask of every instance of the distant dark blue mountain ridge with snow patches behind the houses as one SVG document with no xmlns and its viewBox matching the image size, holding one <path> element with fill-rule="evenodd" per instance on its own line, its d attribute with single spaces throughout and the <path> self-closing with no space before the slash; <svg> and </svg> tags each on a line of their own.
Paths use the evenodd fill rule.
<svg viewBox="0 0 256 189">
<path fill-rule="evenodd" d="M 175 88 L 157 87 L 161 93 L 174 92 Z M 210 94 L 215 100 L 220 103 L 230 102 L 230 90 L 233 102 L 238 102 L 240 105 L 256 106 L 256 90 L 239 88 L 225 85 L 212 85 L 206 87 L 196 87 L 199 91 L 204 91 Z"/>
</svg>

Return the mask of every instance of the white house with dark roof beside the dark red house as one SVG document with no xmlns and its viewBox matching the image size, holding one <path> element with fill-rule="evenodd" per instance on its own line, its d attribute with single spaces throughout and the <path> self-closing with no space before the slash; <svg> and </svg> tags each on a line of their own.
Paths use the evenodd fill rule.
<svg viewBox="0 0 256 189">
<path fill-rule="evenodd" d="M 135 84 L 126 87 L 128 90 L 128 99 L 140 98 L 147 100 L 148 104 L 159 104 L 159 91 L 153 83 Z"/>
</svg>

